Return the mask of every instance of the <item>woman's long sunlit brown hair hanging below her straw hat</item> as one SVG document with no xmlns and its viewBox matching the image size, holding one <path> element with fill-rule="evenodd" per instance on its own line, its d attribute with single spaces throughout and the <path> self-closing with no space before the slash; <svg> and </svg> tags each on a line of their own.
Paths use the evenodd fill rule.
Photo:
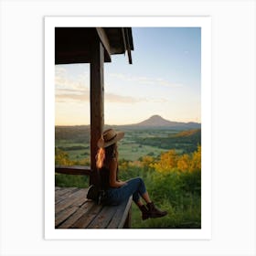
<svg viewBox="0 0 256 256">
<path fill-rule="evenodd" d="M 101 147 L 96 155 L 96 166 L 101 169 L 103 166 L 108 167 L 112 158 L 118 156 L 117 144 L 112 144 L 108 147 Z"/>
</svg>

